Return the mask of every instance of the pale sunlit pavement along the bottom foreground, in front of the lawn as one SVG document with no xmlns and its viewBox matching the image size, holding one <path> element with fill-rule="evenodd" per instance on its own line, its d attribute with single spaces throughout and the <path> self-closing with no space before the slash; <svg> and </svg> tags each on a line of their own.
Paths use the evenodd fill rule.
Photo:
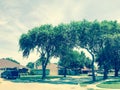
<svg viewBox="0 0 120 90">
<path fill-rule="evenodd" d="M 86 90 L 79 85 L 49 83 L 15 83 L 0 78 L 0 90 Z"/>
</svg>

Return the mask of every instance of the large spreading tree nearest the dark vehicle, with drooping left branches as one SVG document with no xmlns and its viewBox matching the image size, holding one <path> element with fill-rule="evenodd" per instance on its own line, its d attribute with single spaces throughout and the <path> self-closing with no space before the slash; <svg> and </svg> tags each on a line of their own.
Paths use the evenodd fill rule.
<svg viewBox="0 0 120 90">
<path fill-rule="evenodd" d="M 22 34 L 19 40 L 20 50 L 23 57 L 28 57 L 31 51 L 37 50 L 42 63 L 42 79 L 46 77 L 46 66 L 53 56 L 60 57 L 65 47 L 72 48 L 71 37 L 69 36 L 69 26 L 60 24 L 42 25 L 29 30 L 27 34 Z"/>
</svg>

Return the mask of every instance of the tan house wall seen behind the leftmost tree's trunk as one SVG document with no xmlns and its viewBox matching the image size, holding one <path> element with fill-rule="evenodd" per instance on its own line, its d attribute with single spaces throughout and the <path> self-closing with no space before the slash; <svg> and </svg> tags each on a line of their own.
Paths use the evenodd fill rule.
<svg viewBox="0 0 120 90">
<path fill-rule="evenodd" d="M 37 69 L 42 69 L 42 66 L 38 66 Z M 46 69 L 50 70 L 50 75 L 58 75 L 58 65 L 55 63 L 49 63 Z"/>
</svg>

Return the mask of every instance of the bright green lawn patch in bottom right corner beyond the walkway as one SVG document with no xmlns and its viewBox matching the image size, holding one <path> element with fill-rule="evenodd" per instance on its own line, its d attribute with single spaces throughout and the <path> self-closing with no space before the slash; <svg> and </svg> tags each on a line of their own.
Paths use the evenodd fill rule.
<svg viewBox="0 0 120 90">
<path fill-rule="evenodd" d="M 110 89 L 120 89 L 120 79 L 116 78 L 110 81 L 103 82 L 98 84 L 97 87 L 100 88 L 110 88 Z"/>
</svg>

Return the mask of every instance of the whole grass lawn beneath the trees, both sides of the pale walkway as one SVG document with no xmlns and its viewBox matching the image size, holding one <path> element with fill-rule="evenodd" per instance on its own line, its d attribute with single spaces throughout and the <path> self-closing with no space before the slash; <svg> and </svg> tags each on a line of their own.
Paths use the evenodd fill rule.
<svg viewBox="0 0 120 90">
<path fill-rule="evenodd" d="M 102 76 L 96 77 L 96 82 L 92 81 L 91 76 L 80 75 L 80 76 L 67 76 L 67 78 L 63 78 L 63 76 L 50 76 L 46 77 L 47 81 L 41 79 L 41 75 L 26 75 L 21 76 L 19 79 L 15 80 L 15 82 L 40 82 L 40 83 L 51 83 L 51 84 L 80 84 L 80 86 L 86 87 L 87 85 L 94 84 L 103 80 Z M 53 80 L 52 80 L 53 79 Z M 109 77 L 110 81 L 105 81 L 101 84 L 98 84 L 97 87 L 100 88 L 110 88 L 110 89 L 120 89 L 120 77 L 114 78 Z M 55 81 L 54 81 L 55 80 Z M 90 89 L 93 90 L 93 89 Z M 102 89 L 101 89 L 102 90 Z"/>
</svg>

